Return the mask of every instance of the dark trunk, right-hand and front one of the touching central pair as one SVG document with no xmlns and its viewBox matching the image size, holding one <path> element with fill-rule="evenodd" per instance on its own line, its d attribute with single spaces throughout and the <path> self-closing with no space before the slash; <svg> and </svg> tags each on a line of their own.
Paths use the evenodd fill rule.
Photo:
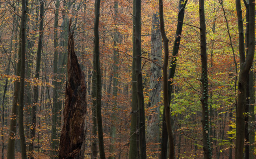
<svg viewBox="0 0 256 159">
<path fill-rule="evenodd" d="M 137 104 L 139 108 L 139 148 L 140 159 L 146 159 L 145 108 L 141 70 L 141 0 L 135 0 L 135 72 L 137 88 Z"/>
</svg>

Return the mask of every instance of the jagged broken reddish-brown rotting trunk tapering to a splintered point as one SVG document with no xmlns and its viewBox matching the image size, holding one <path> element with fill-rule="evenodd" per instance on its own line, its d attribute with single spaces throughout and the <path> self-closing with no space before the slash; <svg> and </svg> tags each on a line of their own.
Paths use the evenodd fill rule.
<svg viewBox="0 0 256 159">
<path fill-rule="evenodd" d="M 73 33 L 69 33 L 67 72 L 64 125 L 60 137 L 59 159 L 83 159 L 86 131 L 86 85 L 85 75 L 74 52 Z"/>
</svg>

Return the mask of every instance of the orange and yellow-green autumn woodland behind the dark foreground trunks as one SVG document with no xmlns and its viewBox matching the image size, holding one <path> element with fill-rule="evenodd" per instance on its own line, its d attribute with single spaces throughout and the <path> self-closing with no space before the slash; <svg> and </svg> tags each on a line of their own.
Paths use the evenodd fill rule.
<svg viewBox="0 0 256 159">
<path fill-rule="evenodd" d="M 42 3 L 42 2 L 41 2 Z M 59 3 L 59 6 L 58 6 Z M 170 50 L 176 34 L 179 0 L 164 1 L 165 32 Z M 33 151 L 36 159 L 53 158 L 63 125 L 63 106 L 67 78 L 67 47 L 69 20 L 72 17 L 74 49 L 87 85 L 87 116 L 85 158 L 91 158 L 96 144 L 95 108 L 92 98 L 94 0 L 44 0 L 40 17 L 40 2 L 27 0 L 26 65 L 24 88 L 24 132 L 27 149 L 32 142 L 32 112 L 36 108 Z M 0 0 L 0 101 L 2 157 L 7 156 L 7 141 L 11 119 L 13 90 L 19 76 L 15 74 L 19 57 L 21 21 L 19 0 Z M 132 114 L 132 0 L 102 0 L 100 4 L 100 68 L 102 70 L 102 124 L 106 156 L 126 159 L 129 156 Z M 198 0 L 188 0 L 185 8 L 173 93 L 171 116 L 176 158 L 202 158 L 202 106 L 200 96 L 200 30 Z M 242 12 L 246 7 L 242 2 Z M 158 1 L 141 1 L 141 50 L 147 158 L 160 155 L 163 88 L 163 47 L 159 30 Z M 56 25 L 56 15 L 58 23 Z M 225 16 L 224 16 L 225 15 Z M 43 25 L 40 29 L 40 20 Z M 208 56 L 210 137 L 213 158 L 234 157 L 236 139 L 237 76 L 239 48 L 236 4 L 234 0 L 206 0 L 206 40 Z M 243 20 L 244 28 L 246 20 Z M 186 25 L 189 24 L 189 25 Z M 191 26 L 192 25 L 192 26 Z M 197 27 L 195 27 L 197 26 Z M 227 29 L 228 26 L 228 29 Z M 41 68 L 37 74 L 39 36 L 42 34 Z M 56 36 L 55 36 L 56 35 Z M 229 36 L 230 35 L 230 36 Z M 153 38 L 152 38 L 153 37 Z M 155 40 L 155 41 L 154 41 Z M 158 42 L 156 42 L 158 40 Z M 158 51 L 153 51 L 154 45 Z M 171 51 L 170 51 L 171 52 Z M 169 55 L 171 57 L 171 54 Z M 171 59 L 171 58 L 170 58 Z M 154 62 L 152 62 L 154 61 Z M 254 76 L 255 70 L 250 69 Z M 252 78 L 252 91 L 254 79 Z M 38 89 L 37 102 L 34 91 Z M 250 96 L 249 132 L 254 134 L 254 93 Z M 17 125 L 19 121 L 17 122 Z M 18 126 L 17 126 L 18 127 Z M 15 137 L 15 156 L 20 158 L 19 130 Z M 167 140 L 167 139 L 166 139 Z M 95 143 L 96 142 L 96 143 Z M 256 150 L 254 137 L 249 141 L 253 159 Z M 95 145 L 94 145 L 95 146 Z M 3 151 L 4 150 L 4 151 Z M 232 151 L 233 150 L 233 151 Z"/>
</svg>

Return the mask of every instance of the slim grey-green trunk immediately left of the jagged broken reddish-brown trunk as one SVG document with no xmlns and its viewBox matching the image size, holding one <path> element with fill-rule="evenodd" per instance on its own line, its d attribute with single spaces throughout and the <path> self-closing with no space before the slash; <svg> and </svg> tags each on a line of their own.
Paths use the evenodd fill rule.
<svg viewBox="0 0 256 159">
<path fill-rule="evenodd" d="M 57 116 L 59 114 L 59 94 L 58 94 L 58 20 L 59 20 L 59 0 L 55 2 L 55 13 L 54 13 L 54 60 L 53 60 L 53 107 L 52 107 L 52 134 L 51 134 L 51 159 L 56 157 L 56 149 L 58 145 L 56 142 L 56 125 Z"/>
</svg>

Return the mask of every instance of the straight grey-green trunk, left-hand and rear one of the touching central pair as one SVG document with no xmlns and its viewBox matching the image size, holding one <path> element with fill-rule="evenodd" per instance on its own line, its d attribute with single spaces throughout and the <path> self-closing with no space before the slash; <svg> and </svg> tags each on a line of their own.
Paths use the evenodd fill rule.
<svg viewBox="0 0 256 159">
<path fill-rule="evenodd" d="M 133 15 L 135 15 L 135 0 L 133 0 Z M 136 72 L 135 72 L 135 16 L 132 19 L 132 112 L 131 112 L 131 128 L 130 128 L 130 147 L 129 159 L 137 159 L 137 87 L 136 87 Z"/>
</svg>

